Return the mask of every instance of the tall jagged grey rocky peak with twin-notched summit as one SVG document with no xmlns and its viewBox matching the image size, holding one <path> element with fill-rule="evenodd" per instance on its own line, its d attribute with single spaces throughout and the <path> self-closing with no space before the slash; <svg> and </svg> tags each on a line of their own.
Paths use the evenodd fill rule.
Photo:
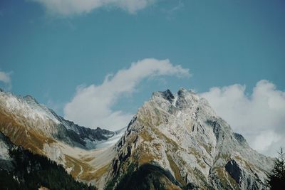
<svg viewBox="0 0 285 190">
<path fill-rule="evenodd" d="M 106 189 L 266 189 L 273 165 L 185 89 L 153 93 L 115 148 Z"/>
</svg>

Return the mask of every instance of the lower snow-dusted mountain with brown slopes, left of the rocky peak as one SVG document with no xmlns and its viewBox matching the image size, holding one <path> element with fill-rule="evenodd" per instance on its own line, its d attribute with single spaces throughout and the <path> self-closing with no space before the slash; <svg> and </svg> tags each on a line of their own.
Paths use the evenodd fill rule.
<svg viewBox="0 0 285 190">
<path fill-rule="evenodd" d="M 90 173 L 112 160 L 108 157 L 97 167 L 94 154 L 102 149 L 96 147 L 110 147 L 108 142 L 122 134 L 99 127 L 95 130 L 81 127 L 56 115 L 30 95 L 21 97 L 3 90 L 0 90 L 0 131 L 14 144 L 62 164 L 81 181 L 94 180 Z"/>
</svg>

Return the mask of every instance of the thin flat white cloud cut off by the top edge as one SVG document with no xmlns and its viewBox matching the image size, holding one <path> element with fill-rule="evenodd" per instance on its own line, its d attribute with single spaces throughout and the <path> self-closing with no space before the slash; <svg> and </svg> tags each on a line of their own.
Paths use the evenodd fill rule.
<svg viewBox="0 0 285 190">
<path fill-rule="evenodd" d="M 43 4 L 51 14 L 64 16 L 89 13 L 93 9 L 113 6 L 134 14 L 157 0 L 31 0 Z"/>
</svg>

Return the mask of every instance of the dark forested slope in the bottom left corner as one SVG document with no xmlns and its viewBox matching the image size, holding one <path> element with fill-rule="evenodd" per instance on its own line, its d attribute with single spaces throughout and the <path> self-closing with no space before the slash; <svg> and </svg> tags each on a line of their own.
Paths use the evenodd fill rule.
<svg viewBox="0 0 285 190">
<path fill-rule="evenodd" d="M 56 162 L 47 157 L 33 154 L 18 147 L 11 149 L 9 154 L 13 159 L 14 169 L 6 171 L 0 169 L 0 189 L 38 189 L 44 186 L 51 190 L 95 190 L 78 182 Z"/>
</svg>

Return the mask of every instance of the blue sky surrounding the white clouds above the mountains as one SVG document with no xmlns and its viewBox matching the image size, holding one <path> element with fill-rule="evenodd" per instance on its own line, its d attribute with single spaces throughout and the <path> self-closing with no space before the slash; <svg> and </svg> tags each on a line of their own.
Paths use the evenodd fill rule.
<svg viewBox="0 0 285 190">
<path fill-rule="evenodd" d="M 191 76 L 146 75 L 110 109 L 133 114 L 152 91 L 180 87 L 211 93 L 216 86 L 246 85 L 239 90 L 252 100 L 260 80 L 284 97 L 284 1 L 122 2 L 63 10 L 38 0 L 1 0 L 0 71 L 9 76 L 1 88 L 33 95 L 66 115 L 78 85 L 101 85 L 109 73 L 155 58 L 169 59 Z"/>
</svg>

